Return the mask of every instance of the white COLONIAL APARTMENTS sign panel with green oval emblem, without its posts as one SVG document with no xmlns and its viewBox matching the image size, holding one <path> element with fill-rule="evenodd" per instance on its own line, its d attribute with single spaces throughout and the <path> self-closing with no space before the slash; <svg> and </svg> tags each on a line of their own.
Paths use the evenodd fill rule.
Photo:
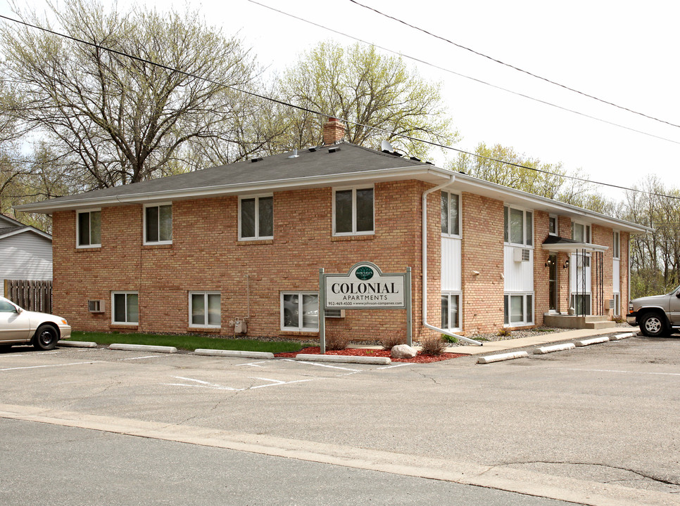
<svg viewBox="0 0 680 506">
<path fill-rule="evenodd" d="M 408 273 L 384 274 L 370 262 L 346 274 L 324 274 L 325 309 L 405 309 Z"/>
</svg>

